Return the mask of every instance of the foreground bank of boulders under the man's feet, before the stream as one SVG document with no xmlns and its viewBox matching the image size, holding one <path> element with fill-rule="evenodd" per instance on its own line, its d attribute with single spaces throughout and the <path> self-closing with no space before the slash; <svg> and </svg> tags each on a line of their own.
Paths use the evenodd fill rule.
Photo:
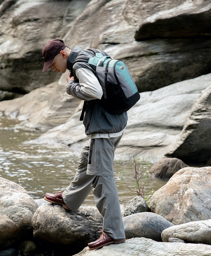
<svg viewBox="0 0 211 256">
<path fill-rule="evenodd" d="M 149 207 L 141 197 L 129 201 L 122 215 L 126 242 L 94 252 L 88 251 L 87 243 L 99 237 L 102 227 L 96 207 L 68 211 L 41 199 L 36 202 L 14 182 L 1 177 L 0 182 L 0 248 L 14 248 L 16 254 L 11 255 L 19 251 L 19 255 L 207 256 L 211 252 L 211 167 L 180 169 L 153 194 Z"/>
</svg>

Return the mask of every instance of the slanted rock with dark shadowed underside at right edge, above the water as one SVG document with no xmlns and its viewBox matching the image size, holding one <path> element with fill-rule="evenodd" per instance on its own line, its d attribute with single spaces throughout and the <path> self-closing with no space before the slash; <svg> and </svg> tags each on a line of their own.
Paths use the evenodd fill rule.
<svg viewBox="0 0 211 256">
<path fill-rule="evenodd" d="M 180 137 L 167 156 L 178 157 L 186 163 L 206 164 L 211 157 L 211 85 L 195 102 Z"/>
</svg>

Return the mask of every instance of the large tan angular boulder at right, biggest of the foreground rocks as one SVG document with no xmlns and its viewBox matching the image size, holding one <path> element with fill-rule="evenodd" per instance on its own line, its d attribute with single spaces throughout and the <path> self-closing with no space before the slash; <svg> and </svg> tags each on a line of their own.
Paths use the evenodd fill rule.
<svg viewBox="0 0 211 256">
<path fill-rule="evenodd" d="M 151 197 L 150 209 L 174 225 L 211 218 L 211 167 L 185 167 Z"/>
</svg>

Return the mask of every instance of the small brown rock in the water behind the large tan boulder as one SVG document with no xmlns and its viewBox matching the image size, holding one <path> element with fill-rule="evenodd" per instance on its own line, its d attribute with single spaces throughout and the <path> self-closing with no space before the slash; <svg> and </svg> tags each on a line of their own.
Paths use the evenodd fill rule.
<svg viewBox="0 0 211 256">
<path fill-rule="evenodd" d="M 184 167 L 188 167 L 188 165 L 180 159 L 176 157 L 166 157 L 152 165 L 151 169 L 149 169 L 149 173 L 156 178 L 165 179 L 172 177 L 172 175 Z"/>
</svg>

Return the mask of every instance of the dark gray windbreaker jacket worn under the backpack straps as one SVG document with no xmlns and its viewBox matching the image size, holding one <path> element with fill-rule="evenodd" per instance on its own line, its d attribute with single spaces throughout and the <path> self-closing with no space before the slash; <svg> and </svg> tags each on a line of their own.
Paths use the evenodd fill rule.
<svg viewBox="0 0 211 256">
<path fill-rule="evenodd" d="M 105 52 L 101 51 L 104 56 L 108 56 Z M 71 70 L 72 64 L 76 57 L 83 55 L 88 57 L 93 57 L 94 53 L 89 50 L 83 50 L 75 46 L 70 53 L 68 58 L 67 67 Z M 86 62 L 76 62 L 73 66 L 73 74 L 75 81 L 71 80 L 68 82 L 68 87 L 66 91 L 69 95 L 72 95 L 74 98 L 85 100 L 86 109 L 83 119 L 83 124 L 85 126 L 86 135 L 91 135 L 95 133 L 118 133 L 121 132 L 127 124 L 127 112 L 122 114 L 109 114 L 103 107 L 100 106 L 100 100 L 93 98 L 89 94 L 83 92 L 80 89 L 79 77 L 76 79 L 74 70 L 77 68 L 88 68 L 93 73 L 95 71 L 91 66 Z"/>
</svg>

